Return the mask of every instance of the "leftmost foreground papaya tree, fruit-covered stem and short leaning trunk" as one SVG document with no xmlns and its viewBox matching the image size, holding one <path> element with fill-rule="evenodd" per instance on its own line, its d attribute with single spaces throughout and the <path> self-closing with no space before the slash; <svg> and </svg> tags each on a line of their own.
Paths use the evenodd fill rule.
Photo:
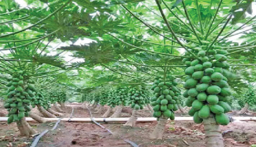
<svg viewBox="0 0 256 147">
<path fill-rule="evenodd" d="M 28 86 L 27 74 L 23 70 L 13 73 L 9 79 L 7 98 L 4 108 L 8 110 L 8 123 L 16 122 L 21 135 L 29 137 L 36 131 L 26 122 L 25 117 L 29 116 L 32 98 L 28 94 L 31 86 Z"/>
</svg>

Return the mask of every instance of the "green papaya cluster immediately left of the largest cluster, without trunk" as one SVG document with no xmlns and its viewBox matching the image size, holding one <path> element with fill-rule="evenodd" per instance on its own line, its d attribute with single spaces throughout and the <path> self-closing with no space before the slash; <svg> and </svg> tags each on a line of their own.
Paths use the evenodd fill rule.
<svg viewBox="0 0 256 147">
<path fill-rule="evenodd" d="M 175 119 L 174 112 L 178 110 L 177 103 L 179 100 L 177 96 L 180 95 L 180 90 L 176 87 L 177 82 L 173 81 L 174 78 L 172 75 L 167 75 L 165 79 L 169 79 L 167 82 L 164 82 L 163 79 L 155 79 L 154 85 L 151 87 L 155 96 L 150 99 L 154 110 L 153 117 Z"/>
</svg>

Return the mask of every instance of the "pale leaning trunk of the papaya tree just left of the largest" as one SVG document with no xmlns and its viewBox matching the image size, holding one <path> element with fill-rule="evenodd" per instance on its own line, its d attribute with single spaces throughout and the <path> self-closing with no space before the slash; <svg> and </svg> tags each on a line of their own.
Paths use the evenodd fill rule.
<svg viewBox="0 0 256 147">
<path fill-rule="evenodd" d="M 150 134 L 151 139 L 163 139 L 164 128 L 167 124 L 167 118 L 160 117 L 154 131 Z"/>
</svg>

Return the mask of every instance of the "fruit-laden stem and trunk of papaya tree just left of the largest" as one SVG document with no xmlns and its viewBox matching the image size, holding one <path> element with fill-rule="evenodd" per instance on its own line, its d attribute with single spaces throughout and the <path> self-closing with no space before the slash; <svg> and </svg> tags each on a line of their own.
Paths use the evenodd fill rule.
<svg viewBox="0 0 256 147">
<path fill-rule="evenodd" d="M 153 117 L 156 117 L 158 124 L 151 133 L 150 138 L 162 139 L 167 119 L 175 119 L 175 111 L 178 110 L 178 95 L 180 90 L 176 87 L 177 82 L 173 81 L 175 76 L 165 75 L 163 79 L 157 78 L 151 90 L 154 90 L 155 96 L 151 98 L 153 106 Z"/>
</svg>

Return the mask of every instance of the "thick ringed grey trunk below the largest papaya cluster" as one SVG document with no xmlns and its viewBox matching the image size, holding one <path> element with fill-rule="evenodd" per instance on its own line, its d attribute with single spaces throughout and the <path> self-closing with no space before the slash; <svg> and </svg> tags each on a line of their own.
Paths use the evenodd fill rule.
<svg viewBox="0 0 256 147">
<path fill-rule="evenodd" d="M 203 119 L 203 124 L 206 135 L 206 146 L 224 147 L 220 125 L 216 123 L 216 120 L 212 114 L 207 119 Z"/>
</svg>

